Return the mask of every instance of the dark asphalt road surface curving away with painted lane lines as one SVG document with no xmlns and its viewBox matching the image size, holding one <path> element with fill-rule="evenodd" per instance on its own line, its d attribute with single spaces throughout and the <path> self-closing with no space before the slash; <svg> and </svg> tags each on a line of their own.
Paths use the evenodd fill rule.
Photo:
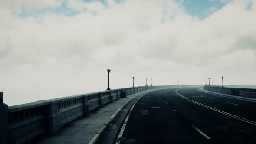
<svg viewBox="0 0 256 144">
<path fill-rule="evenodd" d="M 255 102 L 196 88 L 148 93 L 126 120 L 112 134 L 120 144 L 256 144 Z"/>
</svg>

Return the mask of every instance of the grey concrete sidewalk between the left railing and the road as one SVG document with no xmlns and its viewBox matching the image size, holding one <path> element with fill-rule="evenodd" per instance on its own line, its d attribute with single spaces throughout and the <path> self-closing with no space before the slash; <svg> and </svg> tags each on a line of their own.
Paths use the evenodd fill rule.
<svg viewBox="0 0 256 144">
<path fill-rule="evenodd" d="M 157 89 L 155 89 L 157 90 Z M 147 90 L 120 98 L 100 108 L 98 111 L 91 112 L 90 115 L 79 118 L 78 120 L 63 127 L 57 134 L 46 136 L 36 144 L 94 144 L 105 128 L 114 120 L 115 116 L 133 98 L 145 95 L 155 90 Z"/>
</svg>

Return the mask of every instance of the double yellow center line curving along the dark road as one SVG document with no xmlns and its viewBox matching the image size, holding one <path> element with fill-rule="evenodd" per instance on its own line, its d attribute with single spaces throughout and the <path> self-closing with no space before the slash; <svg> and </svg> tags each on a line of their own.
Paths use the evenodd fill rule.
<svg viewBox="0 0 256 144">
<path fill-rule="evenodd" d="M 230 113 L 228 113 L 228 112 L 221 111 L 221 110 L 219 110 L 219 109 L 217 109 L 217 108 L 213 108 L 213 107 L 210 107 L 210 106 L 208 106 L 208 105 L 203 105 L 203 104 L 200 103 L 200 102 L 197 102 L 197 101 L 194 101 L 194 100 L 192 100 L 192 99 L 190 99 L 190 98 L 184 97 L 183 95 L 181 95 L 181 94 L 178 93 L 178 90 L 180 90 L 180 89 L 177 89 L 177 90 L 175 91 L 175 93 L 176 93 L 177 95 L 179 95 L 180 97 L 185 98 L 185 99 L 187 99 L 187 100 L 189 100 L 189 101 L 191 101 L 191 102 L 194 102 L 194 103 L 197 104 L 197 105 L 201 105 L 201 106 L 203 106 L 203 107 L 205 107 L 205 108 L 209 108 L 209 109 L 211 109 L 211 110 L 213 110 L 213 111 L 217 111 L 217 112 L 219 112 L 219 113 L 221 113 L 221 114 L 230 116 L 230 117 L 232 117 L 232 118 L 239 119 L 240 121 L 244 121 L 244 122 L 247 122 L 247 123 L 249 123 L 249 124 L 256 125 L 256 122 L 254 122 L 254 121 L 250 121 L 250 120 L 248 120 L 248 119 L 246 119 L 246 118 L 241 118 L 241 117 L 239 117 L 239 116 L 232 115 L 232 114 L 230 114 Z"/>
</svg>

